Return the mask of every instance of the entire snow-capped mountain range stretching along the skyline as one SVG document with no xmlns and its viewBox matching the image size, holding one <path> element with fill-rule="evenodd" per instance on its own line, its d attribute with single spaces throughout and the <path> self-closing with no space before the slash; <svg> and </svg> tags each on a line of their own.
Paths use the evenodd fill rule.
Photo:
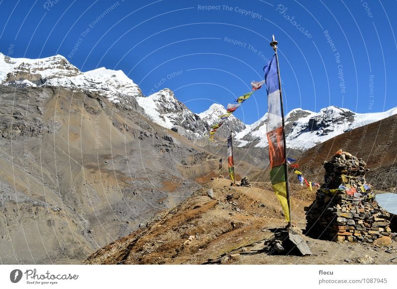
<svg viewBox="0 0 397 289">
<path fill-rule="evenodd" d="M 209 127 L 226 113 L 222 105 L 215 103 L 196 114 L 168 88 L 143 97 L 139 86 L 124 72 L 105 68 L 80 72 L 61 55 L 27 59 L 10 58 L 0 53 L 0 84 L 13 87 L 62 86 L 73 91 L 97 93 L 190 140 L 200 140 L 203 145 L 206 144 Z M 395 114 L 397 108 L 366 114 L 336 106 L 323 108 L 318 113 L 294 109 L 285 116 L 287 145 L 304 151 L 344 132 Z M 246 125 L 231 115 L 216 136 L 225 138 L 232 131 L 237 146 L 266 147 L 266 122 L 267 114 L 252 125 Z"/>
</svg>

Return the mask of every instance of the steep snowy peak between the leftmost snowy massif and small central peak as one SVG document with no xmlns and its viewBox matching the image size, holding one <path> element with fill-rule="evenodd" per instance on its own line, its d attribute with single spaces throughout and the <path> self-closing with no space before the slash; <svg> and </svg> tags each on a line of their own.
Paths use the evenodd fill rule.
<svg viewBox="0 0 397 289">
<path fill-rule="evenodd" d="M 199 115 L 190 111 L 185 104 L 176 99 L 169 88 L 147 97 L 137 97 L 136 101 L 152 122 L 183 136 L 199 138 L 208 131 L 208 125 L 200 119 Z"/>
</svg>

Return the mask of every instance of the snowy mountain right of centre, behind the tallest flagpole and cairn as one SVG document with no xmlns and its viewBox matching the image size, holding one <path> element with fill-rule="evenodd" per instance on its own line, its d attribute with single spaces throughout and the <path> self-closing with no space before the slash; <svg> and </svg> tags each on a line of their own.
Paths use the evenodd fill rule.
<svg viewBox="0 0 397 289">
<path fill-rule="evenodd" d="M 397 114 L 397 108 L 380 113 L 364 114 L 336 106 L 323 108 L 318 113 L 294 109 L 285 116 L 287 146 L 307 150 L 347 131 L 395 114 Z M 250 144 L 256 147 L 267 146 L 266 120 L 267 114 L 237 134 L 235 139 L 240 142 L 239 146 Z"/>
</svg>

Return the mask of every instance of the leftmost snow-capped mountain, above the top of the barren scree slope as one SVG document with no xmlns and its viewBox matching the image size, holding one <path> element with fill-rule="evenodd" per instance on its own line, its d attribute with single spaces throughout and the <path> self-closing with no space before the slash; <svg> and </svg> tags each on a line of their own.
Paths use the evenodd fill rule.
<svg viewBox="0 0 397 289">
<path fill-rule="evenodd" d="M 98 68 L 80 72 L 61 55 L 10 58 L 0 53 L 0 83 L 16 87 L 62 86 L 101 93 L 114 103 L 141 96 L 140 88 L 124 72 Z"/>
</svg>

